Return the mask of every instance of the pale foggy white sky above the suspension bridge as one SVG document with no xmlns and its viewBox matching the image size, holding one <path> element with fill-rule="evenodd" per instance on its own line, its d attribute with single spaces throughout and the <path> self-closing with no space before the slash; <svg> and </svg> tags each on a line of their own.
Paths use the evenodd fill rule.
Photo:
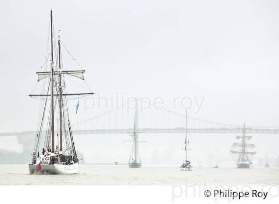
<svg viewBox="0 0 279 204">
<path fill-rule="evenodd" d="M 27 95 L 45 60 L 50 6 L 56 36 L 60 29 L 93 92 L 160 96 L 168 109 L 175 96 L 204 97 L 189 116 L 279 126 L 276 0 L 1 0 L 1 132 L 36 128 L 38 102 Z"/>
</svg>

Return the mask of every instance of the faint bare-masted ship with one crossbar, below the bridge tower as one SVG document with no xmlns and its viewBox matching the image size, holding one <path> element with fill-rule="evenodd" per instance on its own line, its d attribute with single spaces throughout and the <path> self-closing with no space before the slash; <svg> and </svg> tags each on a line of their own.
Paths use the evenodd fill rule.
<svg viewBox="0 0 279 204">
<path fill-rule="evenodd" d="M 139 146 L 138 142 L 146 142 L 138 140 L 138 133 L 136 129 L 136 118 L 134 117 L 134 132 L 132 134 L 133 140 L 126 140 L 125 142 L 132 142 L 132 152 L 129 159 L 129 167 L 130 168 L 140 168 L 141 167 L 141 160 L 139 156 Z"/>
</svg>

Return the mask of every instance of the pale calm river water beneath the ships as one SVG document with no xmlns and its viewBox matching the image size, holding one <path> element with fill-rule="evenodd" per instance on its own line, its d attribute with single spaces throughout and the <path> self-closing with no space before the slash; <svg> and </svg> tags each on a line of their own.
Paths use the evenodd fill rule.
<svg viewBox="0 0 279 204">
<path fill-rule="evenodd" d="M 212 185 L 279 184 L 279 168 L 80 165 L 76 175 L 29 175 L 28 165 L 0 165 L 0 185 L 184 185 L 210 181 Z"/>
</svg>

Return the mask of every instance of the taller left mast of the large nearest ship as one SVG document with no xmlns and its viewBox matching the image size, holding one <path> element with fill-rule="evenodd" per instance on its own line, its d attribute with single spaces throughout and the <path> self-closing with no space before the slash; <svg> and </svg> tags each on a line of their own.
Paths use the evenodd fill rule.
<svg viewBox="0 0 279 204">
<path fill-rule="evenodd" d="M 53 30 L 52 30 L 52 10 L 50 10 L 50 27 L 51 27 L 51 150 L 54 151 L 54 76 L 53 76 Z"/>
</svg>

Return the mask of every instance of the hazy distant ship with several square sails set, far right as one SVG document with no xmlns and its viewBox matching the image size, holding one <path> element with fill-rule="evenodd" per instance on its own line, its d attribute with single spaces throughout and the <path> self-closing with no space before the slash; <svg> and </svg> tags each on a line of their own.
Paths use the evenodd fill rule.
<svg viewBox="0 0 279 204">
<path fill-rule="evenodd" d="M 241 140 L 241 143 L 234 143 L 231 152 L 233 154 L 238 154 L 237 168 L 250 168 L 252 166 L 251 156 L 255 155 L 257 152 L 251 149 L 255 148 L 255 144 L 248 143 L 247 140 L 251 140 L 252 136 L 246 135 L 246 125 L 244 122 L 243 134 L 241 136 L 236 136 L 237 139 Z"/>
</svg>

